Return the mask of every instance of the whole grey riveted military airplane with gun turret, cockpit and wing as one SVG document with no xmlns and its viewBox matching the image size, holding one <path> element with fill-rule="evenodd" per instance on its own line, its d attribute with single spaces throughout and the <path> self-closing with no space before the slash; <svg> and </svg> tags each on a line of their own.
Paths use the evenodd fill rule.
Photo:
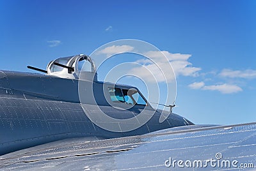
<svg viewBox="0 0 256 171">
<path fill-rule="evenodd" d="M 0 71 L 1 170 L 255 169 L 256 123 L 197 125 L 175 105 L 156 110 L 137 87 L 97 80 L 86 55 L 28 68 L 45 74 Z M 122 123 L 141 113 L 152 115 Z"/>
</svg>

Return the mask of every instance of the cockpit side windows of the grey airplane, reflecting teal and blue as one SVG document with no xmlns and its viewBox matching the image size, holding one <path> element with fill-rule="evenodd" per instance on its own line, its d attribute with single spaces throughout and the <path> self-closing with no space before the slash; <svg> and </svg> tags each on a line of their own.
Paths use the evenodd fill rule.
<svg viewBox="0 0 256 171">
<path fill-rule="evenodd" d="M 126 103 L 128 105 L 147 105 L 141 94 L 136 89 L 120 89 L 109 87 L 111 101 Z"/>
</svg>

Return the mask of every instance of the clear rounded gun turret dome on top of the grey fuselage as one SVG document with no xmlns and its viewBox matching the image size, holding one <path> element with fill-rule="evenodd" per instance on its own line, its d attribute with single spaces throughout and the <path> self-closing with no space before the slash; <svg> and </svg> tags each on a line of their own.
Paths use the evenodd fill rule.
<svg viewBox="0 0 256 171">
<path fill-rule="evenodd" d="M 60 57 L 47 65 L 47 75 L 61 78 L 78 79 L 83 73 L 85 80 L 97 80 L 96 66 L 86 55 Z"/>
</svg>

